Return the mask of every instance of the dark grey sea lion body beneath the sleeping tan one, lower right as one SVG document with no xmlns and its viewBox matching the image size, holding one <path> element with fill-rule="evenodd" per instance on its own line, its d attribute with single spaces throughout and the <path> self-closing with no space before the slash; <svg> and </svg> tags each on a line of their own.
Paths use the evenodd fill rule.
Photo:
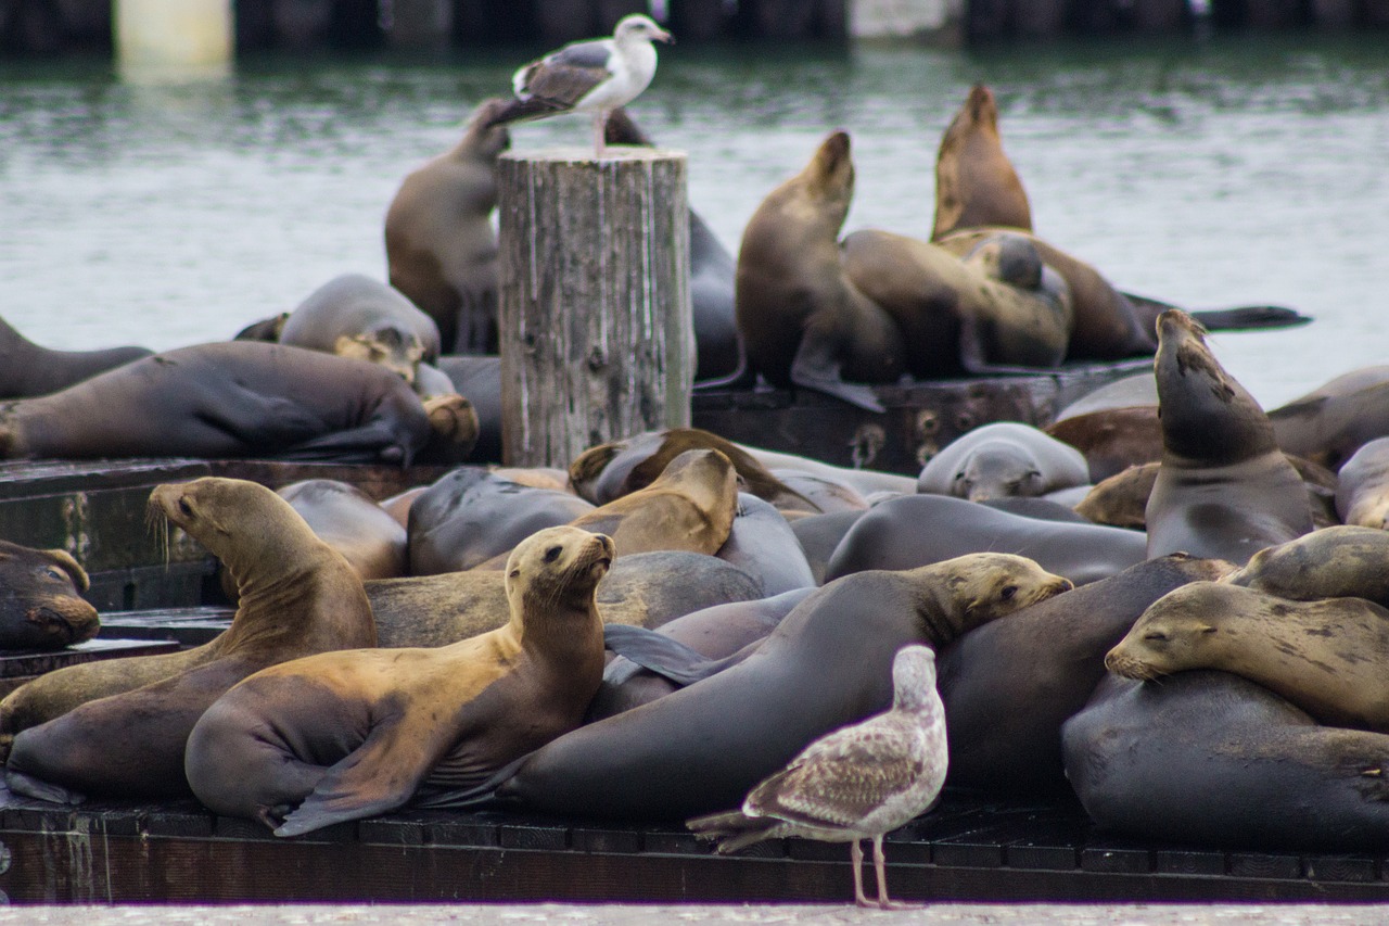
<svg viewBox="0 0 1389 926">
<path fill-rule="evenodd" d="M 1226 672 L 1108 676 L 1061 730 L 1104 830 L 1272 852 L 1389 850 L 1389 736 L 1324 727 Z"/>
</svg>

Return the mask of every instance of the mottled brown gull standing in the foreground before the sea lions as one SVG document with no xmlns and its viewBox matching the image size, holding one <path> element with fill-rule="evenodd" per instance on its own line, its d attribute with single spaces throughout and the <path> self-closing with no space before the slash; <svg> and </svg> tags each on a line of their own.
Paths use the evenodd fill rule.
<svg viewBox="0 0 1389 926">
<path fill-rule="evenodd" d="M 700 838 L 720 840 L 720 855 L 760 840 L 801 836 L 849 843 L 854 902 L 901 909 L 888 898 L 882 837 L 929 811 L 946 781 L 946 713 L 936 692 L 936 655 L 910 645 L 892 662 L 892 708 L 840 727 L 806 747 L 754 787 L 739 811 L 686 822 Z M 878 902 L 864 897 L 863 848 L 872 840 Z"/>
</svg>

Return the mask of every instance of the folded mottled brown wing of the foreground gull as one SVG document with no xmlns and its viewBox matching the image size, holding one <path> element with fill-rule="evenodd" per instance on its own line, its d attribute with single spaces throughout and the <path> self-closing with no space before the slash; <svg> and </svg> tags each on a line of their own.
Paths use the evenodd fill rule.
<svg viewBox="0 0 1389 926">
<path fill-rule="evenodd" d="M 861 724 L 806 748 L 747 795 L 749 815 L 851 829 L 928 772 L 920 738 L 897 724 Z"/>
</svg>

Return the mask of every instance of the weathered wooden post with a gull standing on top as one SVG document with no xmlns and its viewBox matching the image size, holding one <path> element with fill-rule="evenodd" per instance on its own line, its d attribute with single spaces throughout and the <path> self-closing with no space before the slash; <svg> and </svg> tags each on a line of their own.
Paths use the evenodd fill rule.
<svg viewBox="0 0 1389 926">
<path fill-rule="evenodd" d="M 694 377 L 685 154 L 647 147 L 497 161 L 501 459 L 688 427 Z"/>
</svg>

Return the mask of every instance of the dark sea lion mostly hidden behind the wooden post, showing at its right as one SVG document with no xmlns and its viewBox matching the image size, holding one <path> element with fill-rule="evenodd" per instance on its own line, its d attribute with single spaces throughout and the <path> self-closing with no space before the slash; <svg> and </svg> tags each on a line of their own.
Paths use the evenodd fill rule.
<svg viewBox="0 0 1389 926">
<path fill-rule="evenodd" d="M 618 107 L 603 129 L 608 145 L 653 142 Z M 743 362 L 743 346 L 733 317 L 733 277 L 738 261 L 693 209 L 690 218 L 690 310 L 694 318 L 694 382 L 735 377 Z"/>
</svg>

